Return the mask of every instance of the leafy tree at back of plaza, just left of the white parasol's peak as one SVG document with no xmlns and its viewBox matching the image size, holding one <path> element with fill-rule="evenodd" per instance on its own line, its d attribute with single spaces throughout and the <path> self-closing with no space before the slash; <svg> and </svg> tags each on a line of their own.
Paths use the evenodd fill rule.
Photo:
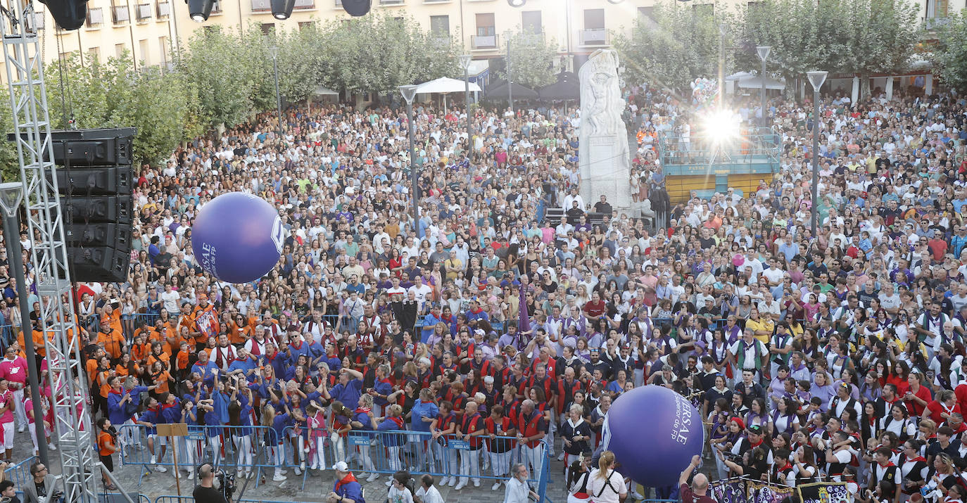
<svg viewBox="0 0 967 503">
<path fill-rule="evenodd" d="M 396 13 L 394 13 L 396 14 Z M 425 32 L 410 16 L 372 13 L 333 20 L 323 29 L 321 83 L 354 93 L 395 93 L 396 87 L 457 73 L 453 39 Z"/>
</svg>

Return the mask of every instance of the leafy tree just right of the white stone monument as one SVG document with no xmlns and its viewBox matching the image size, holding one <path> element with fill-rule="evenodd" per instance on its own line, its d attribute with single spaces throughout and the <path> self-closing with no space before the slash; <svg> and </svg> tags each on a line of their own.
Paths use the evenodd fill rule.
<svg viewBox="0 0 967 503">
<path fill-rule="evenodd" d="M 677 4 L 656 3 L 651 17 L 634 21 L 630 36 L 614 35 L 626 81 L 685 91 L 696 77 L 718 75 L 719 25 L 730 25 L 730 15 Z M 726 33 L 726 47 L 729 39 Z M 728 61 L 723 64 L 728 68 Z"/>
</svg>

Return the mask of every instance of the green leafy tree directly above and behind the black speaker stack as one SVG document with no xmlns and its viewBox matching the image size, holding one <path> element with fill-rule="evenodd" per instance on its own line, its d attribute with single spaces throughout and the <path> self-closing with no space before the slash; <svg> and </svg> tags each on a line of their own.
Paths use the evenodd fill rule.
<svg viewBox="0 0 967 503">
<path fill-rule="evenodd" d="M 84 65 L 70 58 L 54 67 L 58 82 L 67 85 L 48 87 L 50 121 L 66 128 L 73 118 L 78 129 L 137 128 L 132 155 L 139 163 L 159 163 L 185 139 L 186 125 L 197 123 L 190 85 L 175 73 L 157 67 L 134 71 L 131 57 L 122 55 L 106 63 L 89 59 Z"/>
</svg>

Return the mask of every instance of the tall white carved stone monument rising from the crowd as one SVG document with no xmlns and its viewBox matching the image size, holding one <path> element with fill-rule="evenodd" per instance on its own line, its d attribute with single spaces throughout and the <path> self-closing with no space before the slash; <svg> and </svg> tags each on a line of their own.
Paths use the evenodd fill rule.
<svg viewBox="0 0 967 503">
<path fill-rule="evenodd" d="M 618 85 L 618 53 L 594 52 L 581 67 L 580 192 L 585 201 L 607 197 L 619 211 L 632 210 L 625 101 Z"/>
</svg>

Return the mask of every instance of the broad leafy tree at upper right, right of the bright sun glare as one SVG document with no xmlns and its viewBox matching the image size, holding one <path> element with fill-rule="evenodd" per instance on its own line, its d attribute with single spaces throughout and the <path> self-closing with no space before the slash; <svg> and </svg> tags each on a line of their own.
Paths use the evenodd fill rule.
<svg viewBox="0 0 967 503">
<path fill-rule="evenodd" d="M 755 46 L 771 45 L 769 68 L 788 82 L 812 70 L 890 73 L 917 43 L 917 11 L 894 0 L 764 0 L 744 9 L 740 39 L 739 68 L 759 68 Z"/>
</svg>

